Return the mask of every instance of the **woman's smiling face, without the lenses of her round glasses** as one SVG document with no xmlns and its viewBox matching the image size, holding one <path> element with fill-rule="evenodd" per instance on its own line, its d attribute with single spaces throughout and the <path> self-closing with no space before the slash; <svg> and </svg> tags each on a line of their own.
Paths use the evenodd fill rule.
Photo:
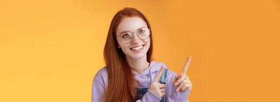
<svg viewBox="0 0 280 102">
<path fill-rule="evenodd" d="M 122 49 L 126 58 L 141 59 L 146 57 L 150 47 L 150 38 L 140 39 L 137 36 L 137 30 L 147 27 L 147 23 L 140 17 L 125 17 L 116 29 L 116 36 L 123 31 L 135 32 L 130 43 L 122 43 L 120 37 L 116 37 L 118 41 L 118 48 Z"/>
</svg>

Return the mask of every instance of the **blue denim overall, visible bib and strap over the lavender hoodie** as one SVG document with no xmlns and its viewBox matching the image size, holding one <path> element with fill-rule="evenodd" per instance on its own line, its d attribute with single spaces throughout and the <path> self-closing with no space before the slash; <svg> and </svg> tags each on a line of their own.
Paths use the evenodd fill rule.
<svg viewBox="0 0 280 102">
<path fill-rule="evenodd" d="M 162 73 L 161 78 L 160 78 L 160 83 L 161 84 L 166 84 L 167 83 L 167 71 L 168 71 L 167 68 L 163 70 L 163 73 Z M 144 94 L 148 91 L 148 89 L 149 88 L 135 88 L 136 98 L 137 99 L 142 99 Z M 165 99 L 164 99 L 164 96 L 163 96 L 160 102 L 164 102 L 164 101 L 165 101 Z"/>
</svg>

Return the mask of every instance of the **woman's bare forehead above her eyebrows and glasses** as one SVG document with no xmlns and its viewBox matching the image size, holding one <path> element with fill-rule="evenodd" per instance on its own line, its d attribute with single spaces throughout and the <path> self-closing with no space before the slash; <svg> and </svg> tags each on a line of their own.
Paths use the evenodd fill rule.
<svg viewBox="0 0 280 102">
<path fill-rule="evenodd" d="M 147 24 L 141 17 L 125 17 L 119 23 L 116 32 L 136 31 L 142 27 L 147 27 Z"/>
</svg>

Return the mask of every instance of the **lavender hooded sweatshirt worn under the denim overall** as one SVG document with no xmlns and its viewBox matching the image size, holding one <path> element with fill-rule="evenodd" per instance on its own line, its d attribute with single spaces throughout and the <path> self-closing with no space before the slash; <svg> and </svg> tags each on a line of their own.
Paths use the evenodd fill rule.
<svg viewBox="0 0 280 102">
<path fill-rule="evenodd" d="M 137 88 L 148 88 L 154 79 L 156 78 L 161 66 L 164 65 L 162 62 L 155 62 L 151 61 L 149 68 L 145 69 L 142 73 L 137 73 L 136 71 L 132 70 L 134 77 L 136 79 L 135 87 Z M 165 67 L 166 68 L 166 67 Z M 168 70 L 167 73 L 167 84 L 165 90 L 165 101 L 172 102 L 172 101 L 188 101 L 188 96 L 191 90 L 186 89 L 183 92 L 175 92 L 177 86 L 172 85 L 172 81 L 175 77 L 176 73 L 173 71 Z M 99 102 L 104 101 L 104 95 L 106 90 L 106 83 L 108 81 L 108 73 L 107 68 L 101 68 L 96 74 L 93 79 L 92 84 L 92 102 Z M 161 98 L 156 96 L 150 90 L 148 90 L 142 99 L 138 99 L 137 102 L 144 102 L 144 101 L 161 101 Z"/>
</svg>

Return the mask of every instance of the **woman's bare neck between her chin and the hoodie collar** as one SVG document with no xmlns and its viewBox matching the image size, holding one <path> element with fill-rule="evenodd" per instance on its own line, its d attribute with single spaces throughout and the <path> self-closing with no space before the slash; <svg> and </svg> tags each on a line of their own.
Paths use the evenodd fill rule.
<svg viewBox="0 0 280 102">
<path fill-rule="evenodd" d="M 149 67 L 149 62 L 147 62 L 147 58 L 143 57 L 140 59 L 133 59 L 131 57 L 126 56 L 126 60 L 130 67 L 136 71 L 137 73 L 142 73 L 145 69 Z"/>
</svg>

